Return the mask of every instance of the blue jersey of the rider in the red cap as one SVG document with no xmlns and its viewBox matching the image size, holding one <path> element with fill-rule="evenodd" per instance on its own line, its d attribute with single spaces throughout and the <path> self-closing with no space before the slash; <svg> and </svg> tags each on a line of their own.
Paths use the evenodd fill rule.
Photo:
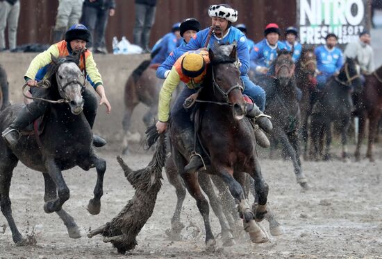
<svg viewBox="0 0 382 259">
<path fill-rule="evenodd" d="M 272 62 L 276 60 L 277 51 L 287 49 L 283 42 L 277 42 L 274 47 L 269 46 L 267 39 L 258 42 L 251 51 L 251 69 L 256 70 L 258 66 L 270 68 Z"/>
</svg>

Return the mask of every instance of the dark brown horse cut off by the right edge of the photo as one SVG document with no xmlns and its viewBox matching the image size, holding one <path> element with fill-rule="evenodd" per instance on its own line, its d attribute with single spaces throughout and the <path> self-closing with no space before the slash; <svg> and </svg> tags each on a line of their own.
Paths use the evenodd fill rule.
<svg viewBox="0 0 382 259">
<path fill-rule="evenodd" d="M 371 75 L 365 76 L 365 86 L 363 87 L 359 107 L 360 128 L 358 132 L 358 142 L 356 148 L 356 160 L 360 160 L 360 145 L 365 136 L 366 120 L 369 119 L 369 136 L 367 141 L 366 157 L 374 162 L 373 143 L 378 134 L 378 123 L 382 114 L 382 66 Z"/>
</svg>

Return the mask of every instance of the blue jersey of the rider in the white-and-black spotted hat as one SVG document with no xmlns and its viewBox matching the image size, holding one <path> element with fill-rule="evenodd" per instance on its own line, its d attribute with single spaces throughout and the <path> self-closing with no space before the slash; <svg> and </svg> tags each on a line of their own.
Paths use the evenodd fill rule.
<svg viewBox="0 0 382 259">
<path fill-rule="evenodd" d="M 204 30 L 200 30 L 199 33 L 194 35 L 188 44 L 185 44 L 182 48 L 182 54 L 186 51 L 194 51 L 199 48 L 204 48 L 206 45 L 208 31 L 210 28 L 206 28 Z M 207 48 L 213 46 L 215 44 L 233 44 L 236 42 L 236 49 L 238 51 L 238 58 L 240 63 L 240 72 L 241 75 L 247 75 L 249 69 L 249 50 L 247 44 L 247 37 L 245 37 L 244 33 L 242 33 L 238 28 L 230 27 L 228 33 L 222 37 L 221 39 L 215 37 L 215 35 L 211 35 L 210 42 L 208 42 Z"/>
</svg>

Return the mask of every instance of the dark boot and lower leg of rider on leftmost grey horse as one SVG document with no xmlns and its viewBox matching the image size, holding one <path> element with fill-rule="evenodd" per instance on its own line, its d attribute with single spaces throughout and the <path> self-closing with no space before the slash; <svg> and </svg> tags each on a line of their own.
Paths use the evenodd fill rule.
<svg viewBox="0 0 382 259">
<path fill-rule="evenodd" d="M 5 139 L 11 147 L 14 147 L 20 139 L 20 130 L 33 123 L 38 117 L 44 114 L 44 109 L 40 109 L 38 102 L 31 102 L 28 106 L 24 107 L 17 115 L 13 123 L 3 130 L 1 136 Z"/>
</svg>

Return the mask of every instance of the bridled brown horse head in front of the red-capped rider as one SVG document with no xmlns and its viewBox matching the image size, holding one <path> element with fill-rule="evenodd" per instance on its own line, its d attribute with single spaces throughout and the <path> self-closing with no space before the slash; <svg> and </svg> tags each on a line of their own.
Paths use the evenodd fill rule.
<svg viewBox="0 0 382 259">
<path fill-rule="evenodd" d="M 274 62 L 275 77 L 279 80 L 281 87 L 288 85 L 294 76 L 294 62 L 292 53 L 287 50 L 277 51 L 277 58 Z"/>
</svg>

